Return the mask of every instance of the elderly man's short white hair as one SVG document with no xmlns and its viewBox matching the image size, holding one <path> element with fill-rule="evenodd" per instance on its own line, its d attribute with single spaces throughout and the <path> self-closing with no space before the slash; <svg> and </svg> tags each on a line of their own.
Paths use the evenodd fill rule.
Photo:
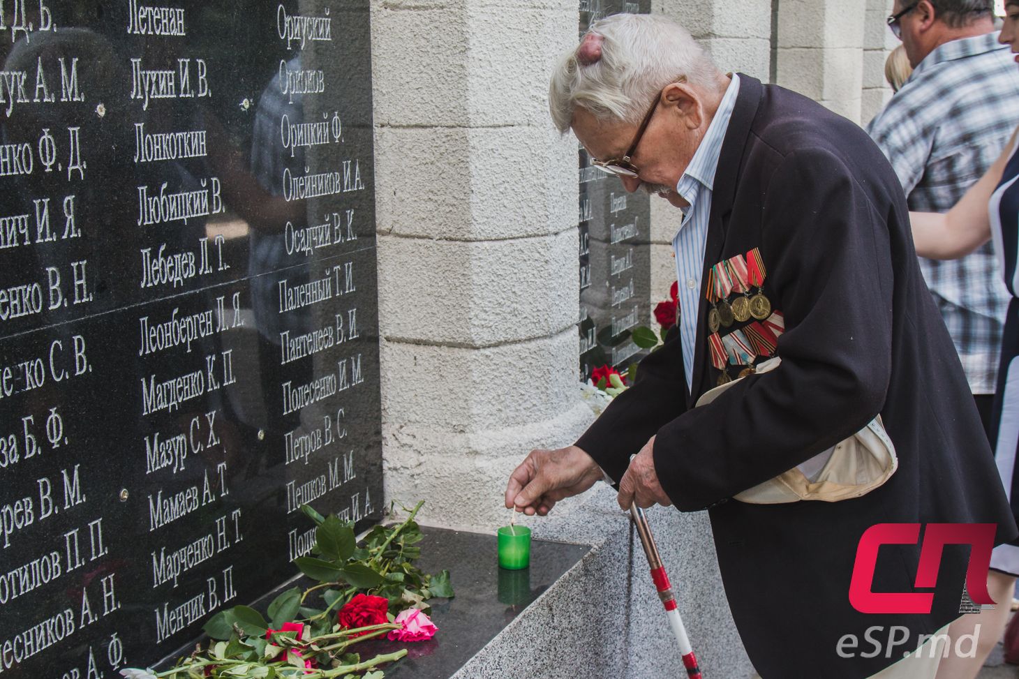
<svg viewBox="0 0 1019 679">
<path fill-rule="evenodd" d="M 577 49 L 562 55 L 548 86 L 552 121 L 566 133 L 580 106 L 599 120 L 638 123 L 651 99 L 685 80 L 708 91 L 720 74 L 686 29 L 659 14 L 613 14 L 591 27 L 602 37 L 601 58 L 585 64 Z M 582 41 L 583 42 L 583 41 Z"/>
</svg>

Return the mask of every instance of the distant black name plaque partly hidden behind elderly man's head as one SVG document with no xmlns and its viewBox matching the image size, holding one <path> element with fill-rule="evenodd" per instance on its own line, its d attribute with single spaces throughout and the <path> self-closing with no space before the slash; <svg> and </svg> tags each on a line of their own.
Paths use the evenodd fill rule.
<svg viewBox="0 0 1019 679">
<path fill-rule="evenodd" d="M 580 35 L 608 14 L 650 11 L 650 0 L 582 0 Z M 628 194 L 619 178 L 592 165 L 584 147 L 579 149 L 578 327 L 581 379 L 587 380 L 596 367 L 607 364 L 626 372 L 640 358 L 631 330 L 650 318 L 651 208 L 647 194 Z"/>
</svg>

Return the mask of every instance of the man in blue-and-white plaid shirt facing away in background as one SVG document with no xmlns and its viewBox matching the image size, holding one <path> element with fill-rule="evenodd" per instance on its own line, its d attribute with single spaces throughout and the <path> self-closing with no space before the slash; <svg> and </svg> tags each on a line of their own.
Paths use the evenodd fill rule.
<svg viewBox="0 0 1019 679">
<path fill-rule="evenodd" d="M 889 25 L 914 70 L 867 132 L 892 161 L 909 209 L 947 212 L 1019 122 L 1019 66 L 994 31 L 994 0 L 895 0 Z M 1008 292 L 990 244 L 920 259 L 989 429 Z"/>
</svg>

